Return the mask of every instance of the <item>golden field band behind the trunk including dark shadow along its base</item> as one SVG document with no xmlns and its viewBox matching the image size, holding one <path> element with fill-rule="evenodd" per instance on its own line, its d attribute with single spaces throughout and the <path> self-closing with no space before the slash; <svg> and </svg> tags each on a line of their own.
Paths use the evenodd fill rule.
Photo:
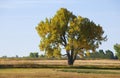
<svg viewBox="0 0 120 78">
<path fill-rule="evenodd" d="M 24 59 L 0 59 L 1 67 L 66 67 L 67 60 L 24 60 Z M 76 60 L 74 63 L 74 68 L 116 68 L 120 69 L 119 60 Z"/>
</svg>

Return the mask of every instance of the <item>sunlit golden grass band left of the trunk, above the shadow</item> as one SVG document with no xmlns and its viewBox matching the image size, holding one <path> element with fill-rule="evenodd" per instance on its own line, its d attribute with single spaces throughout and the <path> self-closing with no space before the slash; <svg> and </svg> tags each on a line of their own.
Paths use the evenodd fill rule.
<svg viewBox="0 0 120 78">
<path fill-rule="evenodd" d="M 0 64 L 48 64 L 67 65 L 66 60 L 22 60 L 22 59 L 0 59 Z"/>
</svg>

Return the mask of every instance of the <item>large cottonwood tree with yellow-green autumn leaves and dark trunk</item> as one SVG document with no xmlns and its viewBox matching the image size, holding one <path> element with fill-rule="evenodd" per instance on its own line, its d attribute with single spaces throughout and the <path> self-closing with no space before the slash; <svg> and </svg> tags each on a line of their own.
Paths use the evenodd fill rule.
<svg viewBox="0 0 120 78">
<path fill-rule="evenodd" d="M 69 65 L 73 65 L 78 54 L 85 50 L 95 51 L 106 39 L 100 25 L 75 16 L 66 8 L 60 8 L 52 18 L 41 21 L 36 30 L 41 38 L 40 50 L 48 57 L 60 57 L 64 48 Z"/>
</svg>

